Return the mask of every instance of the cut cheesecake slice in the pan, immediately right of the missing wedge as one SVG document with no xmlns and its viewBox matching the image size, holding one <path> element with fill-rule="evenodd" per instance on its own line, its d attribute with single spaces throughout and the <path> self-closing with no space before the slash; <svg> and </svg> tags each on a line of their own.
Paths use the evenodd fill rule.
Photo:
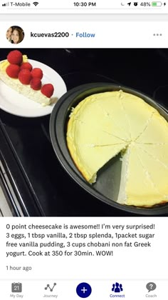
<svg viewBox="0 0 168 300">
<path fill-rule="evenodd" d="M 117 202 L 146 207 L 167 202 L 167 176 L 167 168 L 155 163 L 137 144 L 130 145 L 122 158 Z"/>
</svg>

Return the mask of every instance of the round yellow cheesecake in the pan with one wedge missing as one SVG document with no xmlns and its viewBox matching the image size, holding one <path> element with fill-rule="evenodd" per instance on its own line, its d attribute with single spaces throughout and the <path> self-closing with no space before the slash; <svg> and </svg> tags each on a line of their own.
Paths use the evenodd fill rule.
<svg viewBox="0 0 168 300">
<path fill-rule="evenodd" d="M 150 207 L 168 201 L 168 123 L 139 97 L 123 91 L 88 96 L 70 114 L 67 145 L 90 184 L 121 155 L 120 204 Z"/>
</svg>

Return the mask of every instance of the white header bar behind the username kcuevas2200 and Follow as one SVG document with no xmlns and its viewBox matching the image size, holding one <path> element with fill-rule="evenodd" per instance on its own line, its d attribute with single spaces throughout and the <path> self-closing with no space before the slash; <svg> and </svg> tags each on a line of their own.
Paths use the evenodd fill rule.
<svg viewBox="0 0 168 300">
<path fill-rule="evenodd" d="M 10 26 L 20 26 L 25 38 L 15 46 L 6 40 L 6 31 Z M 164 48 L 168 46 L 167 21 L 107 21 L 100 23 L 87 22 L 46 22 L 30 23 L 28 21 L 1 22 L 0 41 L 2 48 Z M 68 38 L 31 37 L 33 33 L 69 32 Z M 76 33 L 95 34 L 95 38 L 76 37 Z M 155 36 L 154 36 L 155 34 Z M 157 36 L 159 34 L 159 36 Z M 162 34 L 162 36 L 160 35 Z"/>
</svg>

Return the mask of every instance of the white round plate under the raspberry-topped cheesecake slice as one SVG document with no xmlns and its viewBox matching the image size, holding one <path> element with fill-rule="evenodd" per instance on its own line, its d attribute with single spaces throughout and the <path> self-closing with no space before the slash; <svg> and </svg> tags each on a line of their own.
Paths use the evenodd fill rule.
<svg viewBox="0 0 168 300">
<path fill-rule="evenodd" d="M 42 84 L 53 84 L 54 92 L 51 99 L 54 103 L 49 106 L 41 106 L 41 104 L 14 91 L 14 89 L 11 89 L 0 80 L 0 108 L 16 116 L 46 116 L 47 114 L 51 114 L 56 101 L 66 93 L 65 82 L 56 71 L 46 66 L 46 64 L 34 61 L 33 59 L 28 59 L 28 62 L 30 62 L 33 68 L 41 68 L 43 70 Z"/>
</svg>

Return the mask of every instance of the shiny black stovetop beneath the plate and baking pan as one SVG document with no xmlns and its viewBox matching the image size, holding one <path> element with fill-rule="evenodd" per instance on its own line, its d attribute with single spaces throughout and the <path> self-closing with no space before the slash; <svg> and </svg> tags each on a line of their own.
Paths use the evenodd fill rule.
<svg viewBox="0 0 168 300">
<path fill-rule="evenodd" d="M 20 50 L 55 69 L 68 90 L 80 84 L 112 82 L 137 89 L 168 106 L 167 49 Z M 0 61 L 9 51 L 1 49 Z M 93 198 L 66 174 L 51 145 L 49 120 L 50 116 L 27 119 L 0 109 L 0 159 L 23 214 L 133 216 Z M 16 208 L 13 211 L 19 215 Z"/>
</svg>

